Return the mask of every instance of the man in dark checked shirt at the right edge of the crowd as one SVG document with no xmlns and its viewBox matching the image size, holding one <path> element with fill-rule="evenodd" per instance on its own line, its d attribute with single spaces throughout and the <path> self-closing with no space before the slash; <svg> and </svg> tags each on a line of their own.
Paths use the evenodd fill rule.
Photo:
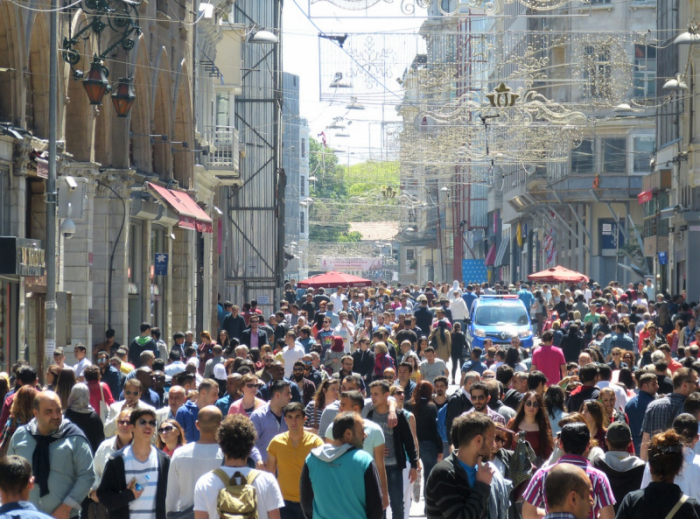
<svg viewBox="0 0 700 519">
<path fill-rule="evenodd" d="M 698 376 L 690 368 L 679 368 L 673 374 L 673 393 L 654 400 L 647 407 L 642 422 L 642 450 L 639 457 L 647 461 L 651 437 L 670 429 L 673 420 L 683 412 L 683 404 L 690 393 L 698 389 Z"/>
</svg>

